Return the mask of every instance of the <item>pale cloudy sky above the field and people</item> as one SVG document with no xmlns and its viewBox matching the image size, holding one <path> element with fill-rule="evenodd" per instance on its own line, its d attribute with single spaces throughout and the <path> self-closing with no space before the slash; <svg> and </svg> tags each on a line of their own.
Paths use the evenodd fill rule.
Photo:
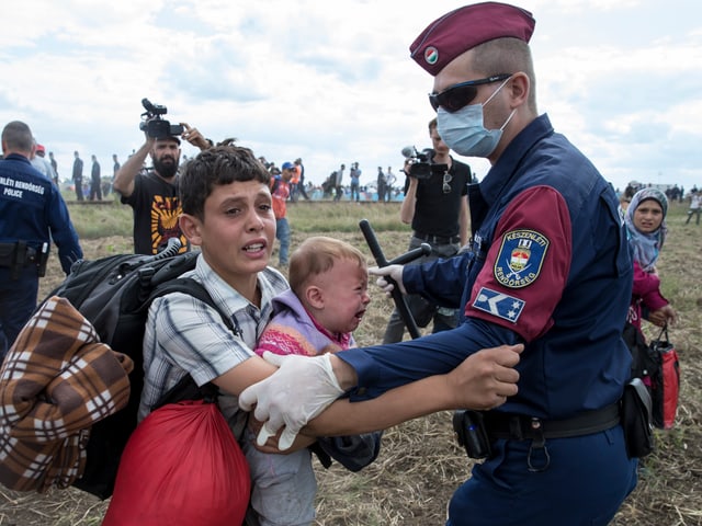
<svg viewBox="0 0 702 526">
<path fill-rule="evenodd" d="M 237 137 L 320 183 L 358 161 L 401 168 L 430 146 L 432 78 L 409 45 L 446 0 L 25 0 L 3 2 L 0 123 L 103 174 L 143 144 L 141 99 L 217 141 Z M 607 180 L 702 186 L 702 2 L 524 0 L 539 111 Z M 188 156 L 196 153 L 190 145 Z M 466 158 L 479 179 L 482 159 Z"/>
</svg>

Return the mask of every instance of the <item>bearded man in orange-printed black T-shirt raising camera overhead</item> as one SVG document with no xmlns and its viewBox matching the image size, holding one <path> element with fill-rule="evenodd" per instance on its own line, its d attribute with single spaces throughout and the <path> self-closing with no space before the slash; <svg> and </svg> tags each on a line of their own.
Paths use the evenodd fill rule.
<svg viewBox="0 0 702 526">
<path fill-rule="evenodd" d="M 178 197 L 178 167 L 180 137 L 205 150 L 212 146 L 197 128 L 186 123 L 172 125 L 162 115 L 166 106 L 141 101 L 146 112 L 139 125 L 146 136 L 144 145 L 120 168 L 114 178 L 114 190 L 121 194 L 122 204 L 134 209 L 134 252 L 156 254 L 170 238 L 179 238 L 181 252 L 190 248 L 178 225 L 181 204 Z M 143 170 L 150 155 L 154 168 Z"/>
</svg>

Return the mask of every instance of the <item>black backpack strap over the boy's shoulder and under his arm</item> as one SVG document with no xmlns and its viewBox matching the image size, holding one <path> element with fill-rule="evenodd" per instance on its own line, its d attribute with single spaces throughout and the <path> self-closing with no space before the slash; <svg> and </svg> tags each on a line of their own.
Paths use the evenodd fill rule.
<svg viewBox="0 0 702 526">
<path fill-rule="evenodd" d="M 151 301 L 154 301 L 156 298 L 160 298 L 161 296 L 166 296 L 171 293 L 188 294 L 189 296 L 193 296 L 194 298 L 214 308 L 217 312 L 219 312 L 222 321 L 225 325 L 227 325 L 227 329 L 237 334 L 238 325 L 235 325 L 227 312 L 224 312 L 222 309 L 219 309 L 219 307 L 217 307 L 207 289 L 192 277 L 179 277 L 159 285 L 151 293 L 151 296 L 149 297 L 146 305 L 151 305 Z M 214 403 L 217 401 L 217 386 L 215 386 L 211 381 L 205 384 L 204 386 L 199 387 L 197 384 L 195 384 L 195 380 L 193 380 L 192 376 L 185 375 L 180 379 L 178 384 L 176 384 L 161 396 L 158 402 L 156 402 L 156 404 L 154 404 L 154 407 L 151 408 L 151 411 L 156 411 L 157 409 L 168 403 L 176 403 L 182 400 L 203 399 L 210 403 Z"/>
</svg>

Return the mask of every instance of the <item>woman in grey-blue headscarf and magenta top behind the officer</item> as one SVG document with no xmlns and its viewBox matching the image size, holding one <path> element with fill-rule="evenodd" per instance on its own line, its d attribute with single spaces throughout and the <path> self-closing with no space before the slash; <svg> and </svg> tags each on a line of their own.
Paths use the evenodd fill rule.
<svg viewBox="0 0 702 526">
<path fill-rule="evenodd" d="M 639 332 L 642 315 L 658 327 L 677 321 L 675 309 L 660 294 L 660 277 L 656 270 L 668 232 L 667 213 L 666 195 L 657 188 L 643 188 L 634 194 L 624 216 L 634 259 L 634 287 L 627 321 Z"/>
</svg>

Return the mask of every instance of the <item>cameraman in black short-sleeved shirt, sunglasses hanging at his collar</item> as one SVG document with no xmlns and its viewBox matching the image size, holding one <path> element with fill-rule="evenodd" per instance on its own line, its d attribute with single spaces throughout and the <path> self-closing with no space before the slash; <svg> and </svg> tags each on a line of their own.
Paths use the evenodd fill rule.
<svg viewBox="0 0 702 526">
<path fill-rule="evenodd" d="M 428 159 L 429 167 L 421 167 L 424 168 L 422 172 L 429 171 L 429 174 L 414 176 L 410 159 L 405 161 L 404 169 L 407 179 L 399 217 L 404 224 L 412 226 L 409 250 L 421 243 L 431 245 L 431 254 L 415 260 L 415 264 L 451 258 L 468 239 L 466 195 L 471 183 L 471 167 L 449 155 L 449 147 L 441 140 L 437 129 L 437 118 L 429 122 L 429 137 L 433 156 Z M 419 295 L 407 296 L 407 305 L 418 327 L 427 327 L 433 320 L 432 332 L 453 329 L 458 322 L 455 310 L 438 307 Z M 383 343 L 401 342 L 404 332 L 405 323 L 395 309 L 385 328 Z"/>
</svg>

